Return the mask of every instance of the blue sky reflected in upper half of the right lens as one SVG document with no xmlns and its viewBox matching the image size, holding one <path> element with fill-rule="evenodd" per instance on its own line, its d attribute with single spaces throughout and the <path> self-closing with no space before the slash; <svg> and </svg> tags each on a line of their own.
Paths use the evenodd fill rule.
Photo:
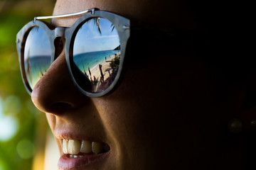
<svg viewBox="0 0 256 170">
<path fill-rule="evenodd" d="M 112 23 L 105 18 L 100 18 L 100 30 L 94 19 L 82 25 L 74 42 L 74 55 L 84 52 L 114 50 L 119 46 L 117 30 L 113 30 Z"/>
</svg>

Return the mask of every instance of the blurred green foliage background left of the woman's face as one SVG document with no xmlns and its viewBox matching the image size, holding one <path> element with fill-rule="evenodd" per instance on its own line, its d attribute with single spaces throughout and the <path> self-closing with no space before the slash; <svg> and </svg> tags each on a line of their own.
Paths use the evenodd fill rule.
<svg viewBox="0 0 256 170">
<path fill-rule="evenodd" d="M 16 33 L 34 16 L 51 15 L 55 1 L 0 0 L 0 170 L 32 169 L 43 146 L 46 118 L 23 86 Z"/>
</svg>

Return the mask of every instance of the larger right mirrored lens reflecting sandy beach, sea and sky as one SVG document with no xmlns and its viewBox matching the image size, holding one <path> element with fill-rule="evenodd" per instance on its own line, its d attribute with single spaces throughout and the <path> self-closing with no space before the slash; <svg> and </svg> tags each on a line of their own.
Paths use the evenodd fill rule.
<svg viewBox="0 0 256 170">
<path fill-rule="evenodd" d="M 98 93 L 112 84 L 120 56 L 119 35 L 110 21 L 92 18 L 80 27 L 75 36 L 73 60 L 85 75 L 84 82 L 89 80 L 92 84 L 86 91 Z"/>
</svg>

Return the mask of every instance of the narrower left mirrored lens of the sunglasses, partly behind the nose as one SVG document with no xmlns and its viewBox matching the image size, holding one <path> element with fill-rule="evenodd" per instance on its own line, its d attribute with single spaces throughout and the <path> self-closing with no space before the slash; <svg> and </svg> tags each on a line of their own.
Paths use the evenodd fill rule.
<svg viewBox="0 0 256 170">
<path fill-rule="evenodd" d="M 31 89 L 50 67 L 50 40 L 45 30 L 33 27 L 28 33 L 24 49 L 24 69 Z"/>
</svg>

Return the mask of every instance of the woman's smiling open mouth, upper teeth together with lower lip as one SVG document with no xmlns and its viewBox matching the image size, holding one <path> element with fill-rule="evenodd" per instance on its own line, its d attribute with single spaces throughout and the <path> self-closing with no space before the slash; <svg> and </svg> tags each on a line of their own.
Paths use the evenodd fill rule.
<svg viewBox="0 0 256 170">
<path fill-rule="evenodd" d="M 110 151 L 103 142 L 63 139 L 63 155 L 58 162 L 59 169 L 80 169 L 100 161 Z"/>
</svg>

